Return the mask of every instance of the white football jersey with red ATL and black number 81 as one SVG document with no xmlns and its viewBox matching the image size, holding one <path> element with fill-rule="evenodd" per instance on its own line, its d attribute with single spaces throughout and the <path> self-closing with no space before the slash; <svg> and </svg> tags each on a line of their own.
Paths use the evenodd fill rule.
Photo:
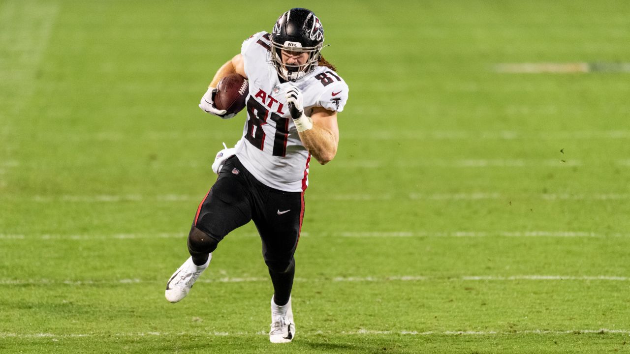
<svg viewBox="0 0 630 354">
<path fill-rule="evenodd" d="M 270 57 L 270 35 L 259 32 L 243 42 L 245 74 L 249 80 L 247 120 L 236 156 L 266 186 L 284 191 L 304 191 L 308 186 L 311 154 L 293 123 L 285 93 L 291 86 L 302 91 L 304 113 L 321 106 L 342 111 L 348 85 L 328 67 L 318 66 L 294 83 L 281 83 Z"/>
</svg>

